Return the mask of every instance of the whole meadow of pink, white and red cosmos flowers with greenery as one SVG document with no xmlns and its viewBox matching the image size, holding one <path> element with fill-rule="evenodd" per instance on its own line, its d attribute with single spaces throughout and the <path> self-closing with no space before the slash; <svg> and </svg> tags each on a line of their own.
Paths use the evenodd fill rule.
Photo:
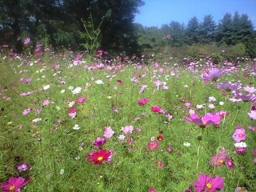
<svg viewBox="0 0 256 192">
<path fill-rule="evenodd" d="M 256 191 L 256 59 L 5 51 L 2 191 Z"/>
</svg>

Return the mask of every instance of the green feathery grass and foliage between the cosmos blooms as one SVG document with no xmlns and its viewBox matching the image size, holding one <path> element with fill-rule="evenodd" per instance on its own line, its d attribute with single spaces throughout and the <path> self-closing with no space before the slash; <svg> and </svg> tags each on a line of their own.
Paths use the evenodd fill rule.
<svg viewBox="0 0 256 192">
<path fill-rule="evenodd" d="M 30 177 L 22 191 L 147 191 L 155 188 L 157 191 L 184 191 L 200 173 L 211 175 L 214 167 L 210 165 L 211 157 L 218 154 L 219 147 L 230 151 L 235 167 L 227 169 L 225 165 L 215 168 L 215 175 L 225 179 L 223 191 L 234 191 L 237 186 L 246 187 L 248 191 L 256 191 L 256 166 L 253 162 L 252 151 L 256 148 L 255 131 L 249 131 L 247 126 L 255 126 L 255 121 L 248 117 L 251 104 L 229 102 L 229 96 L 222 96 L 215 82 L 204 83 L 200 75 L 203 70 L 189 71 L 182 63 L 174 66 L 162 66 L 165 61 L 158 61 L 163 67 L 153 67 L 153 61 L 143 65 L 141 69 L 131 61 L 116 64 L 114 70 L 93 69 L 86 70 L 89 61 L 83 60 L 78 66 L 71 67 L 73 55 L 66 54 L 63 58 L 57 54 L 46 53 L 42 58 L 34 55 L 17 59 L 7 56 L 0 60 L 0 181 L 7 181 L 10 177 Z M 42 64 L 40 64 L 42 62 Z M 60 65 L 59 69 L 53 69 Z M 33 65 L 32 65 L 33 64 Z M 255 83 L 252 75 L 243 78 L 243 69 L 250 62 L 242 63 L 236 73 L 229 73 L 221 77 L 221 81 L 240 81 L 243 86 Z M 60 71 L 60 72 L 59 72 Z M 144 77 L 143 77 L 143 74 Z M 171 75 L 174 74 L 174 75 Z M 20 83 L 20 78 L 31 77 L 30 83 Z M 139 80 L 136 84 L 130 79 Z M 97 85 L 95 81 L 101 79 L 104 84 Z M 117 83 L 121 79 L 123 86 Z M 169 90 L 153 91 L 154 81 L 159 79 L 166 82 Z M 66 85 L 60 82 L 65 81 Z M 50 85 L 50 89 L 42 87 Z M 147 85 L 145 93 L 139 94 L 142 85 Z M 187 85 L 187 88 L 185 87 Z M 80 94 L 73 95 L 69 86 L 82 87 Z M 114 86 L 118 89 L 114 90 Z M 65 93 L 61 90 L 65 89 Z M 22 97 L 21 93 L 35 91 Z M 215 109 L 207 107 L 207 99 L 214 96 Z M 10 97 L 10 101 L 8 97 Z M 69 117 L 68 102 L 86 97 L 87 101 L 77 107 L 77 117 Z M 139 106 L 137 100 L 149 98 L 149 104 Z M 220 123 L 220 127 L 209 126 L 201 129 L 183 120 L 187 116 L 187 108 L 181 99 L 191 102 L 191 109 L 199 104 L 206 104 L 206 108 L 198 110 L 201 116 L 210 111 L 227 111 L 230 115 Z M 44 100 L 49 100 L 49 106 L 42 107 Z M 225 105 L 218 105 L 223 101 Z M 151 112 L 151 106 L 161 106 L 166 113 L 173 115 L 170 121 L 163 114 Z M 116 107 L 115 113 L 111 107 Z M 36 114 L 34 110 L 26 116 L 22 111 L 30 108 L 41 108 Z M 146 115 L 142 116 L 145 111 Z M 140 120 L 134 121 L 135 117 Z M 35 118 L 42 118 L 37 123 Z M 64 123 L 58 125 L 56 121 Z M 81 129 L 73 130 L 75 124 Z M 142 129 L 142 134 L 134 131 L 131 137 L 133 144 L 118 140 L 123 134 L 122 127 L 133 125 Z M 235 154 L 232 135 L 235 126 L 242 125 L 246 129 L 247 153 Z M 55 127 L 59 129 L 55 129 Z M 113 160 L 103 165 L 93 165 L 85 158 L 85 154 L 96 150 L 93 141 L 101 137 L 105 126 L 115 131 L 112 138 L 107 139 L 104 149 L 114 150 Z M 157 151 L 149 151 L 147 143 L 151 137 L 157 138 L 162 130 L 164 139 Z M 198 136 L 202 135 L 202 141 Z M 126 139 L 129 135 L 126 135 Z M 191 145 L 186 147 L 184 142 Z M 81 147 L 84 143 L 84 147 Z M 166 148 L 173 147 L 173 152 L 167 153 Z M 198 147 L 199 146 L 199 147 Z M 198 155 L 199 149 L 199 155 Z M 165 164 L 163 169 L 155 165 L 155 160 Z M 18 174 L 15 166 L 20 162 L 27 162 L 30 170 Z M 197 167 L 198 163 L 198 167 Z"/>
</svg>

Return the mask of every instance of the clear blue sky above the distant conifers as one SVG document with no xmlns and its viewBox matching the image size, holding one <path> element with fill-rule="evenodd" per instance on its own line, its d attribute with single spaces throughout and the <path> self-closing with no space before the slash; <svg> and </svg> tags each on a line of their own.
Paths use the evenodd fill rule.
<svg viewBox="0 0 256 192">
<path fill-rule="evenodd" d="M 139 7 L 140 13 L 135 21 L 143 26 L 157 26 L 169 24 L 170 21 L 184 22 L 193 16 L 199 21 L 207 14 L 211 14 L 218 23 L 225 13 L 246 13 L 254 27 L 256 27 L 256 0 L 143 0 L 145 5 Z M 254 28 L 255 29 L 255 28 Z"/>
</svg>

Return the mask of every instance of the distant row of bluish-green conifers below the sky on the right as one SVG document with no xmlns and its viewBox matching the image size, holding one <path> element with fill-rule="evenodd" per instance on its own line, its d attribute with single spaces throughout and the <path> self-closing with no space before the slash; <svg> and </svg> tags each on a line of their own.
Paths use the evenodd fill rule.
<svg viewBox="0 0 256 192">
<path fill-rule="evenodd" d="M 238 43 L 255 43 L 255 31 L 247 14 L 234 15 L 229 13 L 219 21 L 214 22 L 211 15 L 206 15 L 202 22 L 193 17 L 185 25 L 171 21 L 169 25 L 157 27 L 143 27 L 136 23 L 139 45 L 154 47 L 169 43 L 171 46 L 192 45 L 193 43 L 207 44 L 210 42 L 225 43 L 227 46 Z"/>
</svg>

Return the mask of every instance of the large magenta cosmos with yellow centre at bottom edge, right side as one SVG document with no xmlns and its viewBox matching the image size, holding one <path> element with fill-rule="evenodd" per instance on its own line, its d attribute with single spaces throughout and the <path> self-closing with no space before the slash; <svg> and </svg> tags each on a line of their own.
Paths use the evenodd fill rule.
<svg viewBox="0 0 256 192">
<path fill-rule="evenodd" d="M 196 192 L 215 192 L 220 191 L 224 187 L 224 179 L 222 177 L 211 178 L 205 174 L 199 175 L 199 180 L 194 181 Z"/>
</svg>

